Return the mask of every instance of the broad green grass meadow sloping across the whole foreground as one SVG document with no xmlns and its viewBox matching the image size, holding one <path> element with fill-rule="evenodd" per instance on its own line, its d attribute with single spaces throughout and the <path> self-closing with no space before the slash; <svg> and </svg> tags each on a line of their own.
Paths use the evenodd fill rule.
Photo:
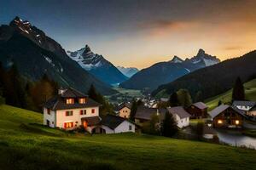
<svg viewBox="0 0 256 170">
<path fill-rule="evenodd" d="M 0 121 L 0 169 L 256 168 L 255 150 L 133 133 L 66 133 L 40 125 L 41 114 L 9 105 L 0 106 Z"/>
</svg>

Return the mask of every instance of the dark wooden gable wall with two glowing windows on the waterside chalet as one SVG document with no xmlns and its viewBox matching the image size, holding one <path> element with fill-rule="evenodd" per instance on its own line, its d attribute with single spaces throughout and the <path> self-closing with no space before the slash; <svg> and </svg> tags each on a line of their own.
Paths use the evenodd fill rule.
<svg viewBox="0 0 256 170">
<path fill-rule="evenodd" d="M 236 124 L 236 121 L 239 123 Z M 243 116 L 232 109 L 227 109 L 213 118 L 213 127 L 242 127 Z"/>
</svg>

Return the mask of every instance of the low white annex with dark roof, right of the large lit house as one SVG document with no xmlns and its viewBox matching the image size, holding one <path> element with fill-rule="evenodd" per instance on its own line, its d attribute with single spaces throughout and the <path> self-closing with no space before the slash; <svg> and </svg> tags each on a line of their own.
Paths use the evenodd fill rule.
<svg viewBox="0 0 256 170">
<path fill-rule="evenodd" d="M 103 133 L 135 133 L 137 125 L 121 116 L 107 115 L 102 117 Z"/>
</svg>

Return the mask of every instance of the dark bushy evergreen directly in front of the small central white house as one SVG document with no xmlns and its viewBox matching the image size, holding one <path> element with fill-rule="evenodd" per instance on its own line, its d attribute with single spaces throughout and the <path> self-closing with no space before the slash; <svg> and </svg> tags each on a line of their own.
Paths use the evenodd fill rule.
<svg viewBox="0 0 256 170">
<path fill-rule="evenodd" d="M 177 122 L 172 114 L 166 111 L 165 120 L 161 124 L 161 134 L 166 137 L 172 137 L 177 133 Z"/>
</svg>

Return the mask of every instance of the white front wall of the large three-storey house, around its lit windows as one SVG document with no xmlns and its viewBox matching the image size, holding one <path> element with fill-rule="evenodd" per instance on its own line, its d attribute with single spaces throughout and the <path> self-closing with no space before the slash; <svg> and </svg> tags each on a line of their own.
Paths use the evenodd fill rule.
<svg viewBox="0 0 256 170">
<path fill-rule="evenodd" d="M 91 110 L 95 109 L 95 113 L 91 113 Z M 86 115 L 80 115 L 81 110 L 86 110 Z M 66 111 L 73 111 L 73 116 L 66 116 Z M 56 111 L 56 123 L 55 127 L 64 128 L 65 122 L 73 122 L 74 127 L 79 127 L 81 125 L 81 118 L 99 116 L 99 107 L 88 107 L 70 110 L 58 110 Z"/>
</svg>

